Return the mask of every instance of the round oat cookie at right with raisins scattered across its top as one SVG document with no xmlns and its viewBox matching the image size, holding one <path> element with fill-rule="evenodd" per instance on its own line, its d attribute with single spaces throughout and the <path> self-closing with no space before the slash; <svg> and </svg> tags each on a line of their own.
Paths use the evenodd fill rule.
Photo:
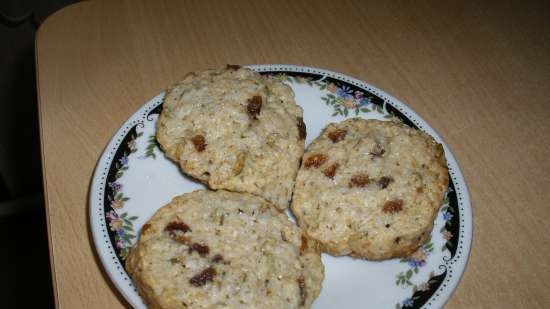
<svg viewBox="0 0 550 309">
<path fill-rule="evenodd" d="M 332 255 L 405 257 L 429 237 L 448 181 L 443 147 L 428 134 L 353 118 L 308 147 L 291 208 Z"/>
</svg>

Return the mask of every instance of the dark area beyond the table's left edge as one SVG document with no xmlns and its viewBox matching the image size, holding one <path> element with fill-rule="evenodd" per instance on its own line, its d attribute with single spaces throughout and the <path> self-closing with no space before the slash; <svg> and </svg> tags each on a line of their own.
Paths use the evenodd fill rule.
<svg viewBox="0 0 550 309">
<path fill-rule="evenodd" d="M 0 307 L 54 308 L 36 102 L 40 24 L 76 0 L 0 0 Z"/>
</svg>

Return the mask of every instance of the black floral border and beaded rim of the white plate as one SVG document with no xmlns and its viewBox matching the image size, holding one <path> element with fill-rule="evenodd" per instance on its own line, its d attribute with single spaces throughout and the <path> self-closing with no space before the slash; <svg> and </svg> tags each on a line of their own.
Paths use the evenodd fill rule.
<svg viewBox="0 0 550 309">
<path fill-rule="evenodd" d="M 448 217 L 445 218 L 446 224 L 441 232 L 449 233 L 448 235 L 453 237 L 452 239 L 449 238 L 451 240 L 445 245 L 451 252 L 451 257 L 449 259 L 443 258 L 442 264 L 439 266 L 440 270 L 443 271 L 441 274 L 430 276 L 428 282 L 425 283 L 429 285 L 428 289 L 417 289 L 414 286 L 413 295 L 397 303 L 395 308 L 427 309 L 443 307 L 458 285 L 466 267 L 472 240 L 472 212 L 464 177 L 454 155 L 441 137 L 407 105 L 358 79 L 328 70 L 303 66 L 251 65 L 248 67 L 262 74 L 274 74 L 278 77 L 288 78 L 287 81 L 289 82 L 316 83 L 319 87 L 327 87 L 331 84 L 332 86 L 337 85 L 341 97 L 349 96 L 350 100 L 365 102 L 365 105 L 372 103 L 370 106 L 380 109 L 379 112 L 382 112 L 383 109 L 386 113 L 401 119 L 407 125 L 427 132 L 443 144 L 449 168 L 450 190 L 447 192 L 448 203 L 443 206 L 446 207 L 443 214 L 444 216 L 447 214 Z M 319 83 L 320 81 L 321 83 Z M 334 90 L 336 92 L 336 89 Z M 354 91 L 361 92 L 364 95 L 353 98 Z M 135 220 L 135 217 L 128 216 L 125 213 L 119 216 L 116 212 L 109 212 L 108 210 L 122 208 L 121 204 L 127 199 L 122 192 L 119 192 L 120 187 L 117 187 L 116 179 L 127 168 L 128 156 L 135 151 L 133 148 L 135 140 L 141 137 L 136 128 L 143 127 L 147 121 L 152 121 L 151 114 L 160 113 L 163 96 L 164 93 L 161 93 L 142 106 L 111 139 L 96 166 L 89 196 L 92 236 L 98 255 L 111 280 L 134 307 L 143 303 L 141 298 L 137 296 L 137 291 L 124 270 L 121 256 L 125 255 L 124 250 L 128 248 L 124 244 L 131 243 L 131 239 L 136 237 L 132 227 L 132 221 Z M 348 113 L 358 115 L 363 111 L 362 104 L 359 103 L 350 107 L 341 106 L 339 103 L 343 101 L 335 101 L 334 96 L 322 99 L 327 105 L 334 107 L 333 116 L 348 116 Z M 365 109 L 368 110 L 368 108 Z M 120 225 L 119 228 L 113 229 L 113 220 Z M 113 246 L 113 244 L 116 244 L 116 246 Z M 430 250 L 433 250 L 433 248 Z M 412 269 L 406 274 L 400 274 L 402 278 L 398 279 L 398 282 L 399 280 L 407 280 L 412 274 Z"/>
</svg>

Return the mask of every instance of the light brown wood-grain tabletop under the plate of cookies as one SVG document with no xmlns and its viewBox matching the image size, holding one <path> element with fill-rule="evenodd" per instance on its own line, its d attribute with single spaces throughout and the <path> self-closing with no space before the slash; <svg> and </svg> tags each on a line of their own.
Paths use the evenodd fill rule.
<svg viewBox="0 0 550 309">
<path fill-rule="evenodd" d="M 90 237 L 94 166 L 144 102 L 227 63 L 330 69 L 407 102 L 473 201 L 469 265 L 446 308 L 549 308 L 549 2 L 447 2 L 89 1 L 48 18 L 36 62 L 58 308 L 127 306 Z"/>
</svg>

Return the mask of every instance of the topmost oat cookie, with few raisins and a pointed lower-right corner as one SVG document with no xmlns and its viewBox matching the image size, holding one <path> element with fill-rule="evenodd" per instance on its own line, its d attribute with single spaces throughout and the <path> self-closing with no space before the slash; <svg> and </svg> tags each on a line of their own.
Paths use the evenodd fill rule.
<svg viewBox="0 0 550 309">
<path fill-rule="evenodd" d="M 306 128 L 292 89 L 246 68 L 190 73 L 167 90 L 157 140 L 212 189 L 288 207 Z"/>
</svg>

